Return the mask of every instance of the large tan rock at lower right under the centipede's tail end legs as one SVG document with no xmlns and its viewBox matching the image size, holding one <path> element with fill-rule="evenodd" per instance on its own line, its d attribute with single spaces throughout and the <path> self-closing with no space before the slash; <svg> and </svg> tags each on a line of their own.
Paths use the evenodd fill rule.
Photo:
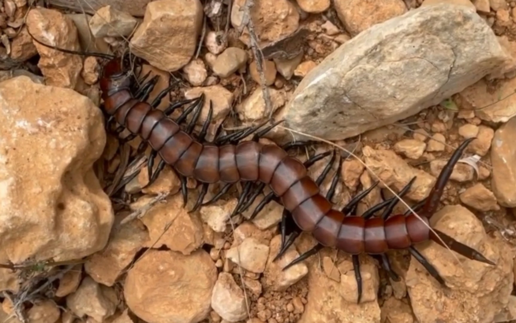
<svg viewBox="0 0 516 323">
<path fill-rule="evenodd" d="M 499 235 L 486 234 L 479 219 L 460 205 L 447 205 L 430 219 L 430 226 L 480 252 L 496 265 L 449 251 L 436 242 L 416 249 L 446 282 L 443 287 L 414 257 L 406 283 L 418 322 L 491 322 L 508 303 L 512 291 L 514 249 Z M 436 304 L 442 310 L 436 311 Z"/>
</svg>

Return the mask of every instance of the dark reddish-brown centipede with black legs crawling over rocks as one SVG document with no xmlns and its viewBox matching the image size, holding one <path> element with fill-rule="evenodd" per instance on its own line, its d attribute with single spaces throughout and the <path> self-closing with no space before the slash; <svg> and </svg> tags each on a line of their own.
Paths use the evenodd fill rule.
<svg viewBox="0 0 516 323">
<path fill-rule="evenodd" d="M 32 35 L 31 35 L 32 36 Z M 268 186 L 270 193 L 253 210 L 250 220 L 271 201 L 280 203 L 284 210 L 279 230 L 281 232 L 280 249 L 273 261 L 278 260 L 291 247 L 302 232 L 309 232 L 316 240 L 316 245 L 299 255 L 283 270 L 302 262 L 316 254 L 322 248 L 335 248 L 351 255 L 353 270 L 358 286 L 357 302 L 362 296 L 362 278 L 360 274 L 359 256 L 367 254 L 378 259 L 380 265 L 389 276 L 399 281 L 399 276 L 392 269 L 387 252 L 390 250 L 408 250 L 410 254 L 433 276 L 443 287 L 444 279 L 438 270 L 415 248 L 416 244 L 433 241 L 442 247 L 472 260 L 495 266 L 478 251 L 455 240 L 445 233 L 430 227 L 429 219 L 437 212 L 440 199 L 454 166 L 459 161 L 467 145 L 475 138 L 470 138 L 454 150 L 446 165 L 442 168 L 427 198 L 410 208 L 404 214 L 392 214 L 395 204 L 411 188 L 415 178 L 399 192 L 397 196 L 378 203 L 360 216 L 356 215 L 357 205 L 378 184 L 357 194 L 341 209 L 333 208 L 332 198 L 340 179 L 342 162 L 331 180 L 330 188 L 325 195 L 321 191 L 321 183 L 328 175 L 335 161 L 333 151 L 328 165 L 317 179 L 308 175 L 308 168 L 316 161 L 330 155 L 331 152 L 319 153 L 305 162 L 288 154 L 292 147 L 310 144 L 310 142 L 293 142 L 283 146 L 264 144 L 260 139 L 277 126 L 281 121 L 267 120 L 259 125 L 222 134 L 217 131 L 212 141 L 206 140 L 207 127 L 212 119 L 213 106 L 209 102 L 209 112 L 202 129 L 193 134 L 193 128 L 204 105 L 204 96 L 196 99 L 170 103 L 165 110 L 157 109 L 161 100 L 170 88 L 161 91 L 149 103 L 147 99 L 157 82 L 154 77 L 150 81 L 138 80 L 128 64 L 127 56 L 100 53 L 82 53 L 56 48 L 34 38 L 46 47 L 66 53 L 97 56 L 104 59 L 99 80 L 101 109 L 107 116 L 106 124 L 116 122 L 119 129 L 127 129 L 129 139 L 139 136 L 142 140 L 138 150 L 146 145 L 151 147 L 148 159 L 150 185 L 165 165 L 169 165 L 181 179 L 181 191 L 186 204 L 186 179 L 193 178 L 201 185 L 201 193 L 192 210 L 209 205 L 237 183 L 243 186 L 237 205 L 232 213 L 241 213 L 248 209 L 255 198 Z M 144 76 L 143 79 L 145 79 Z M 141 85 L 136 85 L 136 84 Z M 172 112 L 182 106 L 191 104 L 182 114 L 173 119 Z M 182 124 L 189 114 L 193 113 L 186 126 Z M 269 125 L 267 125 L 269 124 Z M 264 129 L 262 129 L 265 127 Z M 251 138 L 249 138 L 251 137 Z M 154 159 L 159 156 L 160 162 L 153 170 Z M 341 157 L 342 159 L 342 157 Z M 222 188 L 209 201 L 203 203 L 209 184 L 219 183 Z M 384 209 L 380 216 L 374 214 Z"/>
</svg>

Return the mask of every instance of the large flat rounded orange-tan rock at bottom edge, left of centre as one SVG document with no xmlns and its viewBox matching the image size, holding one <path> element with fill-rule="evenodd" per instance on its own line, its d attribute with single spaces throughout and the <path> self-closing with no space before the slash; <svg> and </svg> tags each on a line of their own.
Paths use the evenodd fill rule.
<svg viewBox="0 0 516 323">
<path fill-rule="evenodd" d="M 200 249 L 185 256 L 148 251 L 127 273 L 124 297 L 129 309 L 149 323 L 194 323 L 207 317 L 217 268 Z"/>
</svg>

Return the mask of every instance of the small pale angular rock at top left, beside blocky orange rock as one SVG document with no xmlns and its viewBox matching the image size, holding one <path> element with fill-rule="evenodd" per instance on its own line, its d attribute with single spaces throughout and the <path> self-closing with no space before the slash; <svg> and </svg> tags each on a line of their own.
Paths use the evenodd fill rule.
<svg viewBox="0 0 516 323">
<path fill-rule="evenodd" d="M 136 19 L 127 12 L 111 6 L 97 10 L 89 21 L 91 33 L 95 37 L 129 36 L 136 27 Z"/>
</svg>

